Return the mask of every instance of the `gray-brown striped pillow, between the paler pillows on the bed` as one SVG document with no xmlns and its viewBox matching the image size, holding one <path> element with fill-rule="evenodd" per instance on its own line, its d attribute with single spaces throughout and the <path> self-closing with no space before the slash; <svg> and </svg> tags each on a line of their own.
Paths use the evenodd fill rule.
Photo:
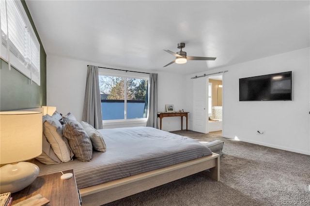
<svg viewBox="0 0 310 206">
<path fill-rule="evenodd" d="M 90 137 L 82 125 L 74 120 L 75 117 L 64 117 L 63 135 L 68 139 L 69 145 L 76 158 L 82 162 L 89 162 L 93 156 L 93 145 Z"/>
</svg>

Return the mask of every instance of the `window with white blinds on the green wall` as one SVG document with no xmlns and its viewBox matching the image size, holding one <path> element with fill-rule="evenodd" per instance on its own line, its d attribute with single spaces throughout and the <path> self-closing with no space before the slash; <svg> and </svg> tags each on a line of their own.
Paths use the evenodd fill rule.
<svg viewBox="0 0 310 206">
<path fill-rule="evenodd" d="M 0 0 L 0 57 L 40 85 L 40 43 L 20 0 Z"/>
</svg>

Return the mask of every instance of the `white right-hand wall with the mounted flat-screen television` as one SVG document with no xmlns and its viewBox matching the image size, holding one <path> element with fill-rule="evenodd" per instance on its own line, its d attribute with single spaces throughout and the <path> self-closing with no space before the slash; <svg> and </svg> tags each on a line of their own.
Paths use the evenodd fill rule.
<svg viewBox="0 0 310 206">
<path fill-rule="evenodd" d="M 309 47 L 205 72 L 226 71 L 223 136 L 310 155 Z M 292 71 L 293 101 L 239 102 L 239 78 Z M 192 108 L 192 81 L 187 76 L 187 106 Z M 202 77 L 204 78 L 204 77 Z M 257 135 L 257 130 L 265 135 Z"/>
</svg>

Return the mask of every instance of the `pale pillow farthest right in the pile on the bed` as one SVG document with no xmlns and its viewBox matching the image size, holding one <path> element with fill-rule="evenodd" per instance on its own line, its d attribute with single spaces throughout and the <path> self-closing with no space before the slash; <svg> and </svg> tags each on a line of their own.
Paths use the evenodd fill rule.
<svg viewBox="0 0 310 206">
<path fill-rule="evenodd" d="M 92 125 L 87 122 L 81 121 L 81 125 L 85 129 L 88 136 L 91 138 L 93 148 L 99 152 L 105 152 L 107 147 L 103 140 L 102 135 Z"/>
</svg>

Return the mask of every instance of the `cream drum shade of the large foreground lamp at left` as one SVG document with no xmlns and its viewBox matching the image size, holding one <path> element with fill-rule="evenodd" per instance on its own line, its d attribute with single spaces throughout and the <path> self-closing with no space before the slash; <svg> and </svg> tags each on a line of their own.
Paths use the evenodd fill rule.
<svg viewBox="0 0 310 206">
<path fill-rule="evenodd" d="M 30 160 L 42 153 L 42 113 L 0 112 L 0 164 Z"/>
</svg>

